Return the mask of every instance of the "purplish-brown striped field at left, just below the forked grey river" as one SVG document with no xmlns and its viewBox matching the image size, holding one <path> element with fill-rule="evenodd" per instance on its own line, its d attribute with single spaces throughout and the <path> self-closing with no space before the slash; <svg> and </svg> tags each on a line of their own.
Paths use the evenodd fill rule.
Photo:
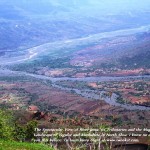
<svg viewBox="0 0 150 150">
<path fill-rule="evenodd" d="M 36 100 L 33 100 L 31 103 L 39 105 L 46 103 L 47 106 L 56 106 L 59 107 L 60 110 L 65 109 L 65 111 L 77 111 L 83 114 L 91 114 L 99 110 L 99 102 L 97 101 L 91 101 L 76 94 L 61 91 L 44 84 L 42 85 L 38 82 L 15 82 L 14 84 L 0 82 L 0 85 L 3 87 L 0 97 L 1 103 L 5 100 L 11 104 L 18 102 L 27 105 L 27 103 L 31 101 L 32 96 L 36 95 Z M 20 89 L 22 90 L 21 93 L 19 93 Z M 23 95 L 23 93 L 25 96 L 21 97 L 21 94 Z M 101 102 L 101 105 L 106 107 L 108 104 Z"/>
</svg>

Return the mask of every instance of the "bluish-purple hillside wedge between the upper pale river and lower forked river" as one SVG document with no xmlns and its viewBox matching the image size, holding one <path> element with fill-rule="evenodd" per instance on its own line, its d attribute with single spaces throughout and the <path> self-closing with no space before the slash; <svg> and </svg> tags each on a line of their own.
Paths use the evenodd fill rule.
<svg viewBox="0 0 150 150">
<path fill-rule="evenodd" d="M 36 57 L 9 68 L 51 77 L 150 74 L 149 32 L 94 40 L 75 39 L 68 45 L 65 41 L 40 45 L 30 49 Z"/>
</svg>

